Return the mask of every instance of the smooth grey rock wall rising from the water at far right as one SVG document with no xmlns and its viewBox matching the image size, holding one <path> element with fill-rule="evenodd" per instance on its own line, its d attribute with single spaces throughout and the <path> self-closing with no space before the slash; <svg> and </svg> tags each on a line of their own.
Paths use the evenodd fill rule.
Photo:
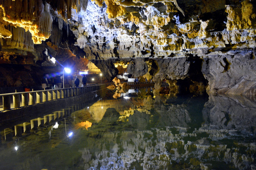
<svg viewBox="0 0 256 170">
<path fill-rule="evenodd" d="M 202 72 L 209 94 L 256 95 L 254 51 L 230 51 L 204 59 Z"/>
</svg>

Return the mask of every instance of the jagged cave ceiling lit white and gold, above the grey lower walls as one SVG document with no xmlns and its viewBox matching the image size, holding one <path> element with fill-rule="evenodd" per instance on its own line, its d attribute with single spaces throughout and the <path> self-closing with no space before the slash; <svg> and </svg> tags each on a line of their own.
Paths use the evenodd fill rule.
<svg viewBox="0 0 256 170">
<path fill-rule="evenodd" d="M 115 62 L 133 63 L 136 58 L 145 59 L 145 64 L 180 57 L 234 56 L 256 47 L 255 2 L 0 0 L 0 61 L 23 58 L 21 64 L 49 66 L 51 57 L 62 64 L 71 58 L 74 64 L 87 59 L 104 71 Z M 104 64 L 107 60 L 111 62 Z M 221 62 L 225 69 L 228 61 Z M 118 73 L 113 69 L 108 71 L 109 79 Z"/>
</svg>

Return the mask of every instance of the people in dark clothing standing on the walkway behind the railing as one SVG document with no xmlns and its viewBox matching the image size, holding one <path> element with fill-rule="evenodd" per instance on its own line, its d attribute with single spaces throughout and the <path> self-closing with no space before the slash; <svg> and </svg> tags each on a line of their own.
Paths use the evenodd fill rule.
<svg viewBox="0 0 256 170">
<path fill-rule="evenodd" d="M 43 78 L 41 80 L 42 83 L 42 88 L 45 90 L 49 90 L 49 89 L 60 89 L 62 88 L 62 78 L 61 75 L 57 75 L 55 77 L 50 78 L 49 74 L 44 74 Z M 76 76 L 75 81 L 74 81 L 76 87 L 79 87 L 80 84 L 80 80 L 79 78 Z M 86 86 L 87 83 L 87 77 L 85 75 L 83 75 L 82 78 L 82 86 Z"/>
</svg>

